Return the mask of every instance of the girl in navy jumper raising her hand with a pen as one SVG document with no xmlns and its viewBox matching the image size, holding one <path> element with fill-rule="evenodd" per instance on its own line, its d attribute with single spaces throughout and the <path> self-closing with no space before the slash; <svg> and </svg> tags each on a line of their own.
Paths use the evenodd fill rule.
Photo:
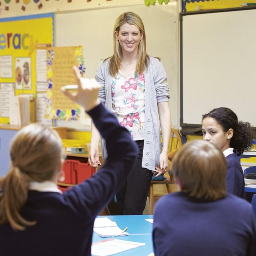
<svg viewBox="0 0 256 256">
<path fill-rule="evenodd" d="M 81 78 L 78 93 L 63 91 L 83 106 L 106 140 L 108 158 L 90 179 L 62 194 L 64 152 L 58 133 L 29 124 L 13 139 L 12 168 L 0 179 L 1 256 L 90 256 L 94 219 L 120 190 L 138 147 L 128 130 L 100 103 L 99 84 Z"/>
</svg>

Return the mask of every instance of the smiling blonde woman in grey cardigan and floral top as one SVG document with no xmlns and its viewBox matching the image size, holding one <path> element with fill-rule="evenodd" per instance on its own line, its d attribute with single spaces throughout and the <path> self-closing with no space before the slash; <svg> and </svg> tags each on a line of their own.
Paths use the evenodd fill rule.
<svg viewBox="0 0 256 256">
<path fill-rule="evenodd" d="M 142 214 L 153 173 L 168 167 L 171 115 L 167 76 L 159 58 L 146 52 L 146 32 L 137 14 L 125 12 L 114 24 L 114 54 L 100 63 L 99 98 L 138 144 L 135 168 L 116 195 L 120 214 Z M 162 144 L 160 141 L 162 131 Z M 89 162 L 98 166 L 100 134 L 92 124 Z M 102 141 L 102 156 L 107 151 Z M 158 168 L 159 166 L 159 168 Z"/>
</svg>

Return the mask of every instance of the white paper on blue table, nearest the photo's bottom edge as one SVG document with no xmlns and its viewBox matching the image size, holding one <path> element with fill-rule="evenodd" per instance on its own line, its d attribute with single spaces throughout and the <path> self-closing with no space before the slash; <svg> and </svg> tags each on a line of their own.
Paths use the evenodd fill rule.
<svg viewBox="0 0 256 256">
<path fill-rule="evenodd" d="M 95 256 L 109 256 L 144 245 L 146 244 L 119 239 L 103 240 L 92 244 L 91 253 Z"/>
</svg>

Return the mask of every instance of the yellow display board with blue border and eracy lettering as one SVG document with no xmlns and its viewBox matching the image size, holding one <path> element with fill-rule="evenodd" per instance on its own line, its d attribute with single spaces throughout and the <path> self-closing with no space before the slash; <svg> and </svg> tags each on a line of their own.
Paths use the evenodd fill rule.
<svg viewBox="0 0 256 256">
<path fill-rule="evenodd" d="M 53 13 L 0 18 L 0 123 L 9 122 L 10 96 L 14 94 L 32 98 L 31 122 L 35 121 L 36 46 L 42 44 L 54 46 Z"/>
</svg>

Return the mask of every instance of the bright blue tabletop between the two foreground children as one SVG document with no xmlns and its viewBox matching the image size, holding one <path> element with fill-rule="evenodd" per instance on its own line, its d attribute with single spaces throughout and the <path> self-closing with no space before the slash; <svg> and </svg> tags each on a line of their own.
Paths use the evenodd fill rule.
<svg viewBox="0 0 256 256">
<path fill-rule="evenodd" d="M 107 217 L 112 221 L 115 221 L 117 226 L 121 229 L 128 227 L 126 232 L 128 236 L 118 236 L 115 239 L 128 240 L 132 242 L 145 243 L 145 246 L 134 248 L 125 252 L 114 254 L 114 256 L 147 256 L 153 252 L 152 242 L 152 229 L 153 224 L 145 219 L 152 219 L 153 215 L 110 215 L 110 216 L 98 216 L 97 218 Z M 93 232 L 92 242 L 99 242 L 109 238 L 100 237 Z M 112 238 L 110 238 L 112 239 Z"/>
</svg>

